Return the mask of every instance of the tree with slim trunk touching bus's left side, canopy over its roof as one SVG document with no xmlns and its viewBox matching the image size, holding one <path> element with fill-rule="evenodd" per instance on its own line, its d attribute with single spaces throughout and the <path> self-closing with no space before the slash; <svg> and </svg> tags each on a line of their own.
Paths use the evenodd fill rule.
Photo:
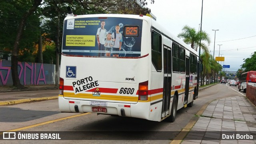
<svg viewBox="0 0 256 144">
<path fill-rule="evenodd" d="M 71 4 L 74 14 L 100 14 L 100 13 L 124 13 L 127 6 L 130 8 L 130 14 L 147 14 L 150 9 L 145 8 L 145 0 L 45 0 L 44 14 L 44 32 L 50 34 L 50 38 L 56 43 L 56 73 L 55 85 L 59 81 L 59 55 L 62 43 L 63 20 L 66 17 L 68 4 Z M 154 0 L 151 0 L 154 3 Z M 56 15 L 57 14 L 57 15 Z M 48 27 L 48 28 L 47 28 Z"/>
</svg>

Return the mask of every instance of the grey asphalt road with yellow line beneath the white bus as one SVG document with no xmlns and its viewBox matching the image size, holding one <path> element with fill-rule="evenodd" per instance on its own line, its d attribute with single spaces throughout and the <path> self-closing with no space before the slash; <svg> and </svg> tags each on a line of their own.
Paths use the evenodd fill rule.
<svg viewBox="0 0 256 144">
<path fill-rule="evenodd" d="M 237 86 L 226 84 L 216 84 L 205 88 L 199 92 L 198 99 L 194 101 L 192 108 L 178 110 L 173 123 L 165 120 L 154 122 L 90 113 L 61 113 L 58 110 L 58 100 L 0 106 L 0 131 L 50 131 L 62 134 L 62 140 L 4 140 L 0 143 L 170 144 L 180 130 L 196 116 L 202 106 L 219 98 L 243 94 L 238 92 Z M 66 118 L 68 116 L 76 117 Z"/>
</svg>

